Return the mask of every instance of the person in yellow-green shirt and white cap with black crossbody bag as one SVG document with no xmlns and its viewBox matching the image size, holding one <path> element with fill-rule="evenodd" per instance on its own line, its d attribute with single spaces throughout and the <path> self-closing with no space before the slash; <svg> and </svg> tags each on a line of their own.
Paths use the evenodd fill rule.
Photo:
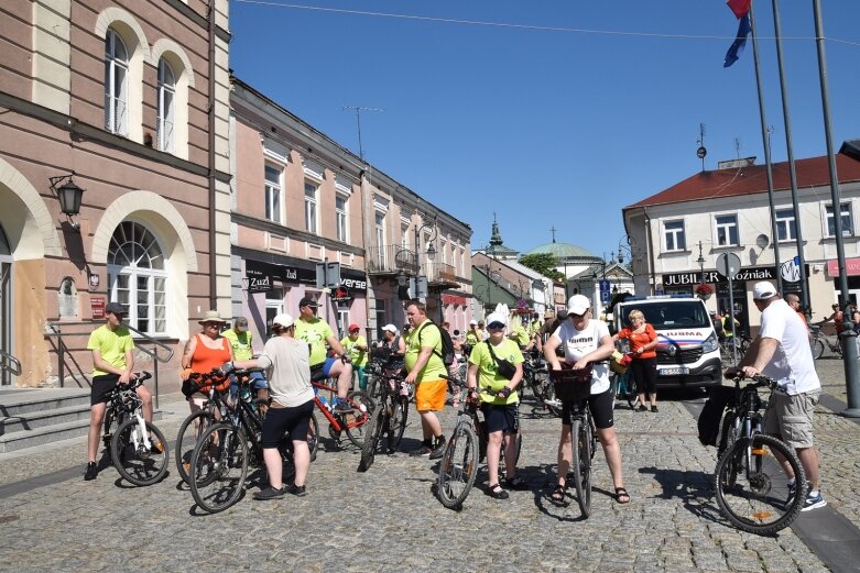
<svg viewBox="0 0 860 573">
<path fill-rule="evenodd" d="M 499 458 L 504 441 L 505 485 L 511 489 L 525 489 L 525 482 L 516 473 L 516 432 L 520 429 L 516 386 L 523 379 L 523 354 L 516 341 L 504 337 L 508 317 L 492 312 L 487 317 L 490 338 L 476 345 L 469 355 L 466 386 L 470 393 L 479 389 L 478 397 L 487 425 L 488 493 L 496 499 L 508 499 L 499 480 Z M 507 361 L 508 364 L 503 364 Z M 511 368 L 513 365 L 513 368 Z M 502 374 L 502 366 L 513 372 L 510 378 Z M 497 395 L 487 394 L 493 390 Z"/>
</svg>

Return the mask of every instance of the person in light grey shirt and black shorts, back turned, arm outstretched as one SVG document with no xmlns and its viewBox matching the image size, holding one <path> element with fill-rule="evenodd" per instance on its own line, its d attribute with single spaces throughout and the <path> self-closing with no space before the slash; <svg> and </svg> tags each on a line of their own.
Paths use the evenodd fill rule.
<svg viewBox="0 0 860 573">
<path fill-rule="evenodd" d="M 257 360 L 228 362 L 221 371 L 265 368 L 272 404 L 263 421 L 263 460 L 269 473 L 269 487 L 257 492 L 254 499 L 280 499 L 285 493 L 305 495 L 305 480 L 311 465 L 307 431 L 314 411 L 314 388 L 311 385 L 311 352 L 304 341 L 295 339 L 295 319 L 277 315 L 272 320 L 274 335 L 265 342 Z M 277 444 L 290 434 L 293 442 L 295 478 L 289 487 L 282 483 L 283 460 Z"/>
</svg>

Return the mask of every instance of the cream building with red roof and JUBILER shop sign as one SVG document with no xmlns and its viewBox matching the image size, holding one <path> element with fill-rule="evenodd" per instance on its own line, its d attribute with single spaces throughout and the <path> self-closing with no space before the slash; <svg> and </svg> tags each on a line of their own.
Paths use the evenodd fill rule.
<svg viewBox="0 0 860 573">
<path fill-rule="evenodd" d="M 849 267 L 849 297 L 860 297 L 860 154 L 846 142 L 837 154 L 841 221 Z M 752 305 L 759 280 L 783 291 L 801 291 L 797 228 L 808 276 L 813 320 L 830 313 L 838 297 L 836 239 L 826 156 L 798 159 L 799 214 L 795 217 L 787 163 L 773 165 L 776 240 L 772 228 L 765 167 L 730 162 L 703 172 L 623 209 L 630 236 L 636 294 L 693 294 L 704 282 L 715 287 L 707 300 L 714 310 L 729 308 L 728 278 L 717 273 L 717 257 L 733 253 L 742 271 L 733 277 L 734 311 L 753 331 L 760 315 Z M 776 254 L 779 250 L 779 255 Z"/>
</svg>

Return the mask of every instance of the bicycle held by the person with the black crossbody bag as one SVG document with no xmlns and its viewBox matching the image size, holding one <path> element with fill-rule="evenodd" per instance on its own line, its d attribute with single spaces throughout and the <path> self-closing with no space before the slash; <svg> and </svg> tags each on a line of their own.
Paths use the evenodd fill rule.
<svg viewBox="0 0 860 573">
<path fill-rule="evenodd" d="M 453 384 L 458 385 L 464 392 L 470 392 L 466 387 L 466 381 L 454 376 L 445 376 Z M 473 392 L 473 390 L 472 390 Z M 490 389 L 481 390 L 488 396 L 497 396 L 498 393 Z M 434 489 L 442 505 L 448 509 L 458 509 L 471 492 L 475 480 L 478 476 L 478 464 L 487 454 L 487 426 L 478 418 L 477 399 L 462 400 L 457 411 L 457 425 L 454 427 L 450 438 L 445 443 L 445 449 L 439 460 L 439 475 Z M 523 447 L 522 434 L 516 432 L 516 459 Z M 515 465 L 516 460 L 514 460 Z M 504 448 L 499 456 L 500 475 L 504 469 Z"/>
</svg>

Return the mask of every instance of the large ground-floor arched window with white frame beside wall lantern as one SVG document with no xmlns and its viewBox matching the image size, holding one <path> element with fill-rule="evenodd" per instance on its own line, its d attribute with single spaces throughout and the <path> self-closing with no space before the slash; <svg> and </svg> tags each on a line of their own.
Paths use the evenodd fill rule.
<svg viewBox="0 0 860 573">
<path fill-rule="evenodd" d="M 149 229 L 123 221 L 108 250 L 110 300 L 122 305 L 128 323 L 146 334 L 166 334 L 166 282 L 164 254 Z"/>
</svg>

